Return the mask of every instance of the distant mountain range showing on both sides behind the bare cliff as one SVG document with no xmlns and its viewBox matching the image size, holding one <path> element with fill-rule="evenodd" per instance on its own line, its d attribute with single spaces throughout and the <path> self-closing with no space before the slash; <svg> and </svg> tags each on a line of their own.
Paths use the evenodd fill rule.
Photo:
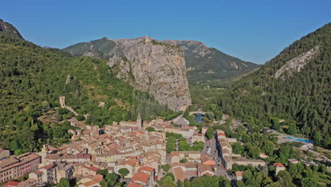
<svg viewBox="0 0 331 187">
<path fill-rule="evenodd" d="M 121 45 L 129 45 L 128 41 L 133 42 L 139 40 L 139 38 L 120 40 L 127 41 L 127 43 Z M 91 42 L 80 42 L 63 50 L 75 56 L 90 56 L 109 60 L 114 55 L 113 50 L 120 40 L 101 38 Z M 226 55 L 215 48 L 207 47 L 202 42 L 192 40 L 158 41 L 153 38 L 149 38 L 149 40 L 180 47 L 185 55 L 187 79 L 190 83 L 233 79 L 259 67 L 259 65 L 252 62 L 245 62 Z"/>
</svg>

